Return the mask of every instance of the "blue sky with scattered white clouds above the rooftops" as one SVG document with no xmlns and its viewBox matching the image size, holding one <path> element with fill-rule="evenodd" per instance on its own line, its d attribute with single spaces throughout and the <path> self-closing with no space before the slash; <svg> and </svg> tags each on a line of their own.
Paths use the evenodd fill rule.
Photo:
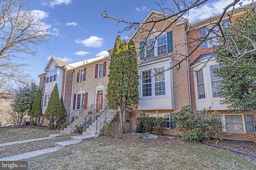
<svg viewBox="0 0 256 170">
<path fill-rule="evenodd" d="M 39 83 L 38 75 L 51 56 L 67 63 L 75 63 L 92 57 L 107 55 L 114 47 L 117 35 L 128 39 L 129 31 L 122 31 L 125 24 L 103 18 L 104 10 L 110 16 L 127 20 L 142 21 L 151 9 L 160 10 L 155 0 L 24 0 L 35 13 L 40 13 L 42 22 L 52 35 L 48 46 L 38 47 L 36 57 L 26 56 L 32 78 Z M 219 14 L 225 4 L 233 0 L 212 0 L 190 12 L 191 20 L 202 20 Z M 160 0 L 157 0 L 160 3 Z M 167 4 L 169 2 L 169 4 Z M 171 0 L 166 6 L 172 7 Z M 244 5 L 244 4 L 243 4 Z"/>
</svg>

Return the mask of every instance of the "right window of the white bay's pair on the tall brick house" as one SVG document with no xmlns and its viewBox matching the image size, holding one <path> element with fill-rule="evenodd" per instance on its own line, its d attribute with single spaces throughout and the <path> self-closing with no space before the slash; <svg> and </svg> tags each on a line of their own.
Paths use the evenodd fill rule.
<svg viewBox="0 0 256 170">
<path fill-rule="evenodd" d="M 156 69 L 155 74 L 157 74 L 155 76 L 155 95 L 165 95 L 164 68 Z"/>
</svg>

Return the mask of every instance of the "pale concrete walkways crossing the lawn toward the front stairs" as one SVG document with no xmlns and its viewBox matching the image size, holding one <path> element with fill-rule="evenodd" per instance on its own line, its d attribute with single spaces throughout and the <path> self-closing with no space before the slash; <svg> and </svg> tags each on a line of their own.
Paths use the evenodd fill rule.
<svg viewBox="0 0 256 170">
<path fill-rule="evenodd" d="M 26 143 L 26 142 L 31 142 L 31 141 L 40 141 L 40 140 L 44 140 L 44 139 L 51 139 L 53 137 L 58 137 L 58 136 L 62 136 L 65 134 L 53 134 L 50 135 L 51 137 L 43 137 L 43 138 L 37 138 L 37 139 L 29 139 L 29 140 L 25 140 L 25 141 L 17 141 L 17 142 L 10 142 L 10 143 L 2 143 L 0 144 L 1 146 L 7 146 L 7 145 L 14 145 L 14 144 L 19 144 L 19 143 Z M 51 153 L 51 152 L 55 152 L 57 150 L 60 150 L 64 147 L 67 147 L 69 145 L 73 145 L 76 143 L 79 143 L 81 141 L 85 141 L 85 140 L 89 140 L 92 139 L 92 136 L 86 136 L 86 135 L 77 135 L 77 136 L 73 136 L 70 137 L 71 141 L 63 141 L 63 142 L 57 142 L 55 143 L 55 147 L 52 148 L 46 148 L 46 149 L 41 149 L 41 150 L 35 150 L 32 152 L 26 152 L 26 153 L 22 153 L 22 154 L 17 154 L 14 156 L 8 156 L 5 158 L 0 158 L 0 161 L 17 161 L 17 160 L 22 160 L 22 159 L 27 159 L 27 158 L 31 158 L 34 156 L 38 156 L 38 155 L 42 155 L 42 154 L 46 154 L 46 153 Z"/>
</svg>

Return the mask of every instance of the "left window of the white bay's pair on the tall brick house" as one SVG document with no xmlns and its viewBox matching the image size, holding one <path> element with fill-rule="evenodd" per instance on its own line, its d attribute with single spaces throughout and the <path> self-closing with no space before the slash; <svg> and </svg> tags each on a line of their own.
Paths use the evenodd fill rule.
<svg viewBox="0 0 256 170">
<path fill-rule="evenodd" d="M 142 72 L 142 96 L 152 96 L 151 71 Z"/>
</svg>

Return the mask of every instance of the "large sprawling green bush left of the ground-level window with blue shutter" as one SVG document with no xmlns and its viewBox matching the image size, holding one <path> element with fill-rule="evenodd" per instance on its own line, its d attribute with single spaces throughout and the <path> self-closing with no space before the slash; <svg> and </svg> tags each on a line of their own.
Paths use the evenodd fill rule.
<svg viewBox="0 0 256 170">
<path fill-rule="evenodd" d="M 210 109 L 210 108 L 209 108 Z M 214 139 L 216 142 L 221 140 L 222 131 L 221 114 L 217 111 L 209 113 L 203 109 L 193 112 L 192 106 L 184 106 L 181 111 L 174 116 L 177 129 L 183 131 L 182 139 L 199 143 L 202 139 Z"/>
</svg>

